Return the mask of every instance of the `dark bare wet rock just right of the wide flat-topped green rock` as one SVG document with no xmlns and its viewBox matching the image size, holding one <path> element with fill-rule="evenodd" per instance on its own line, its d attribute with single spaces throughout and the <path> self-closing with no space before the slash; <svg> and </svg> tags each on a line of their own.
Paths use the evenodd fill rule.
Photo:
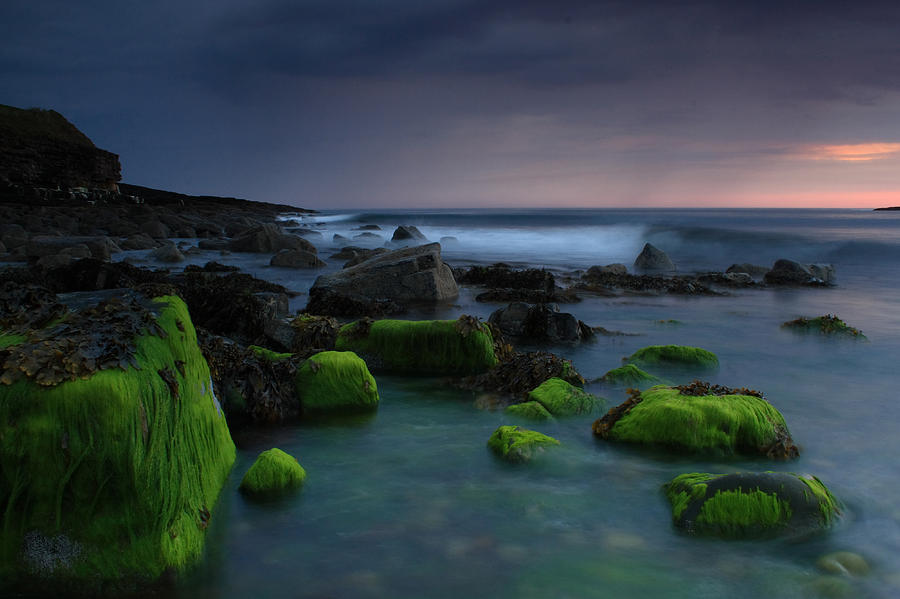
<svg viewBox="0 0 900 599">
<path fill-rule="evenodd" d="M 512 303 L 495 310 L 488 322 L 518 341 L 577 343 L 593 337 L 589 326 L 568 312 L 560 312 L 555 304 Z"/>
</svg>

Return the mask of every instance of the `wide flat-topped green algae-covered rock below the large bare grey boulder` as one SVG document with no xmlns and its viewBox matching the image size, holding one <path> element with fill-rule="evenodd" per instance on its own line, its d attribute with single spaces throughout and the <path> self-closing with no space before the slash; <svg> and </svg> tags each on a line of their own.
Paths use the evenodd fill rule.
<svg viewBox="0 0 900 599">
<path fill-rule="evenodd" d="M 478 374 L 497 364 L 490 330 L 467 316 L 357 321 L 341 327 L 335 347 L 357 352 L 376 371 Z"/>
</svg>

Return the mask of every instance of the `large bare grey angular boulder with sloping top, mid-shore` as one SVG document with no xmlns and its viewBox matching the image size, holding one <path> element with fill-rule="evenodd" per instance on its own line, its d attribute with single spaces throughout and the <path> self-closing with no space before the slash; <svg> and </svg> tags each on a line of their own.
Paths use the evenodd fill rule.
<svg viewBox="0 0 900 599">
<path fill-rule="evenodd" d="M 441 246 L 431 243 L 396 250 L 339 272 L 321 275 L 309 291 L 307 311 L 344 316 L 329 305 L 335 297 L 361 303 L 437 302 L 459 295 L 450 267 L 441 261 Z"/>
</svg>

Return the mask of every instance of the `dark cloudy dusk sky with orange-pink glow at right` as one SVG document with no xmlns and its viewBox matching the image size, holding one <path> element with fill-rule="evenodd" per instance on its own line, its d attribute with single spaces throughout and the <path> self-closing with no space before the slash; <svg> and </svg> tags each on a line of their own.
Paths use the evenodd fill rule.
<svg viewBox="0 0 900 599">
<path fill-rule="evenodd" d="M 4 0 L 0 104 L 308 208 L 900 205 L 900 2 Z"/>
</svg>

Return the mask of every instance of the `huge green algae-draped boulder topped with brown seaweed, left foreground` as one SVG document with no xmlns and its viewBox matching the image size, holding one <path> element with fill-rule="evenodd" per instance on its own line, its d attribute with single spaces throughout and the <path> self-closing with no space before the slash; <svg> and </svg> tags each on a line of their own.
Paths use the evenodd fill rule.
<svg viewBox="0 0 900 599">
<path fill-rule="evenodd" d="M 184 302 L 21 336 L 0 351 L 0 575 L 85 591 L 195 562 L 235 449 Z"/>
</svg>

